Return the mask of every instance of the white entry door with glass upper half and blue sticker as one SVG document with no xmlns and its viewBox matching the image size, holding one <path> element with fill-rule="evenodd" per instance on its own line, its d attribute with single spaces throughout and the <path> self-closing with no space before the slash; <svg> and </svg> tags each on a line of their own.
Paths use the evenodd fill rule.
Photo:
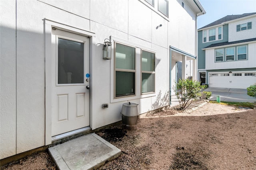
<svg viewBox="0 0 256 170">
<path fill-rule="evenodd" d="M 90 39 L 52 30 L 52 136 L 90 125 Z"/>
</svg>

